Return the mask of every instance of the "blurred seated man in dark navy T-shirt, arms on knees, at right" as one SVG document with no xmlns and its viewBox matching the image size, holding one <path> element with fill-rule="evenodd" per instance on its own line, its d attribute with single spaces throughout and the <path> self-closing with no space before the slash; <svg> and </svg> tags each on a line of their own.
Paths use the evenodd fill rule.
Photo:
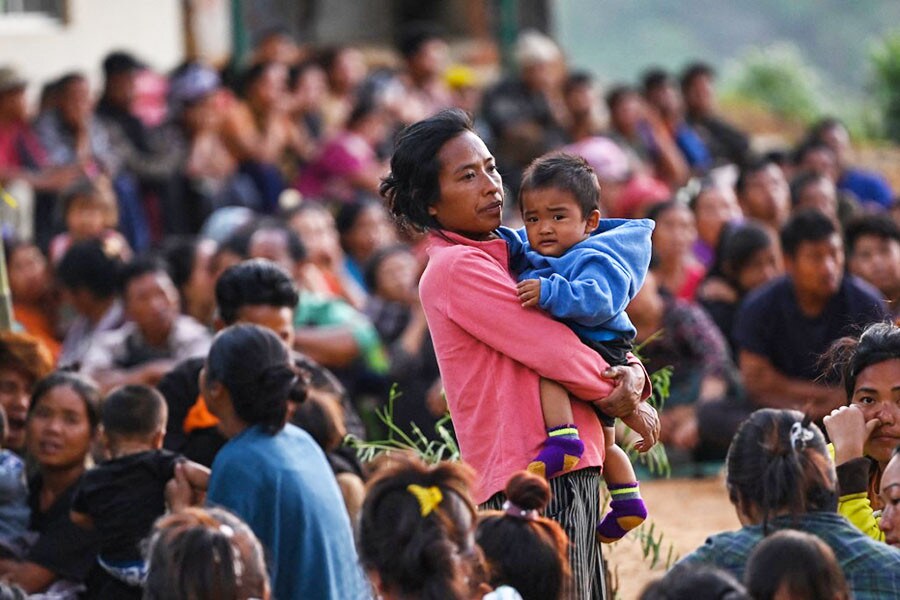
<svg viewBox="0 0 900 600">
<path fill-rule="evenodd" d="M 844 397 L 817 381 L 818 357 L 888 312 L 875 289 L 844 275 L 841 236 L 825 215 L 810 210 L 791 217 L 781 245 L 787 275 L 754 291 L 738 311 L 741 374 L 756 406 L 805 409 L 821 418 Z"/>
</svg>

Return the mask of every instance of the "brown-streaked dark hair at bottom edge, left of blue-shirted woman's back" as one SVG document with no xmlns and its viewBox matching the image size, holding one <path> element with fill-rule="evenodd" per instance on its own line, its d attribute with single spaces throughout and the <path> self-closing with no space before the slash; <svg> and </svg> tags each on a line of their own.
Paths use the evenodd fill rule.
<svg viewBox="0 0 900 600">
<path fill-rule="evenodd" d="M 221 508 L 192 506 L 160 517 L 145 558 L 146 600 L 249 600 L 269 588 L 262 545 Z"/>
</svg>

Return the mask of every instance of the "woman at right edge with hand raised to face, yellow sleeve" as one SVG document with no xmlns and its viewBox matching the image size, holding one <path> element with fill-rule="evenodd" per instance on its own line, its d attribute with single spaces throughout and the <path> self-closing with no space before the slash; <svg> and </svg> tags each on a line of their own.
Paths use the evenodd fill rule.
<svg viewBox="0 0 900 600">
<path fill-rule="evenodd" d="M 878 495 L 892 451 L 900 445 L 900 327 L 876 323 L 859 338 L 838 340 L 823 358 L 841 374 L 847 406 L 825 417 L 841 490 L 838 510 L 884 541 Z M 881 517 L 884 518 L 883 516 Z"/>
</svg>

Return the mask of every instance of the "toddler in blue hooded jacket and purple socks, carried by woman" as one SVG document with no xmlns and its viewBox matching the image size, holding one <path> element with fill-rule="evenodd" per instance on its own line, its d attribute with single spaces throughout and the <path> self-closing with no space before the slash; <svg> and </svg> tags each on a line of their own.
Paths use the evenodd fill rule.
<svg viewBox="0 0 900 600">
<path fill-rule="evenodd" d="M 534 161 L 523 176 L 519 203 L 523 230 L 501 228 L 518 273 L 522 306 L 538 306 L 561 319 L 610 366 L 627 363 L 635 328 L 625 307 L 641 288 L 650 263 L 647 219 L 605 219 L 600 186 L 588 163 L 568 154 Z M 526 239 L 527 238 L 527 239 Z M 547 478 L 572 470 L 584 452 L 566 390 L 541 380 L 548 438 L 528 470 Z M 610 513 L 597 526 L 603 542 L 620 539 L 647 517 L 628 456 L 615 444 L 615 419 L 603 423 L 603 476 Z"/>
</svg>

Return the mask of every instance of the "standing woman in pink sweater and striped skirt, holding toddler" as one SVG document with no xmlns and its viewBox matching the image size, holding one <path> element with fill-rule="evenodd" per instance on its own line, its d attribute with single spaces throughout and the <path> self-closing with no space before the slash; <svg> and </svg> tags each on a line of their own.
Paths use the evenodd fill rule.
<svg viewBox="0 0 900 600">
<path fill-rule="evenodd" d="M 649 449 L 659 434 L 643 366 L 610 368 L 565 325 L 522 307 L 506 242 L 495 230 L 503 184 L 494 157 L 459 110 L 405 129 L 381 185 L 402 224 L 430 232 L 429 263 L 419 294 L 434 341 L 462 458 L 477 473 L 474 498 L 500 508 L 510 476 L 544 441 L 540 378 L 573 396 L 585 443 L 578 467 L 550 480 L 557 519 L 572 545 L 573 597 L 603 596 L 597 494 L 603 433 L 591 403 L 622 418 Z"/>
</svg>

